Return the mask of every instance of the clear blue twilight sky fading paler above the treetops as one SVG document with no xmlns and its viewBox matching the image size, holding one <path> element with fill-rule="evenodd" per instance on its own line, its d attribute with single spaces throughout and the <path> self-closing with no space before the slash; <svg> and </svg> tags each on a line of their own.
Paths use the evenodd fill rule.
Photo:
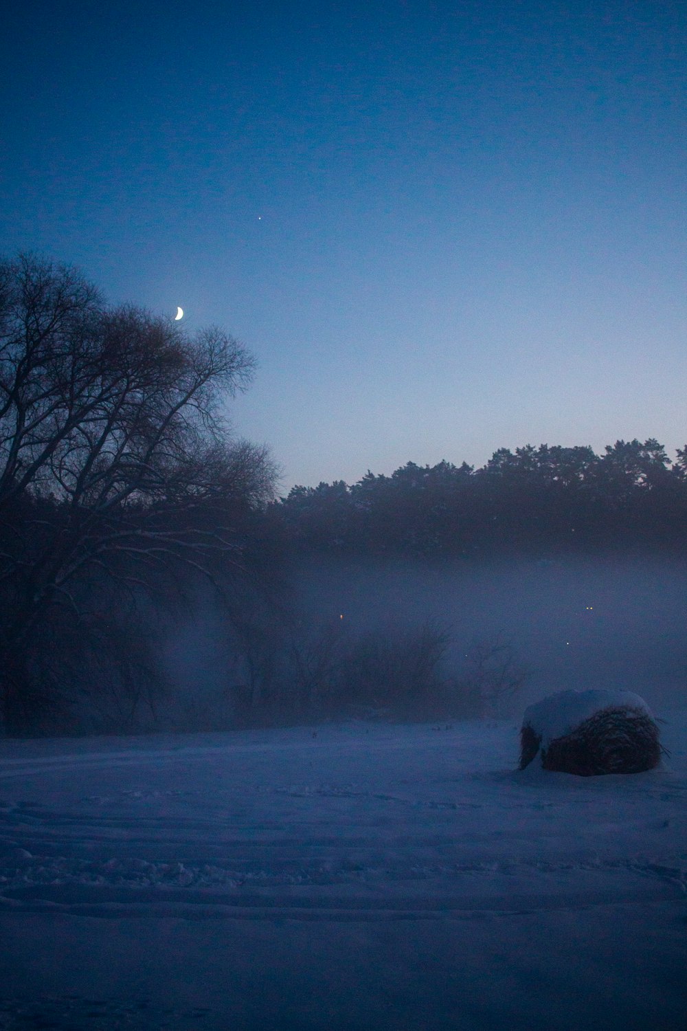
<svg viewBox="0 0 687 1031">
<path fill-rule="evenodd" d="M 0 253 L 216 323 L 295 483 L 687 441 L 687 5 L 10 0 Z"/>
</svg>

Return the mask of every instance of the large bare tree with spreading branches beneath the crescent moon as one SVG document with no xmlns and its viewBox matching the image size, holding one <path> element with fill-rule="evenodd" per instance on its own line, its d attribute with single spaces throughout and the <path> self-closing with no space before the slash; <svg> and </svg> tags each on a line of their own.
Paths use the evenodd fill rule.
<svg viewBox="0 0 687 1031">
<path fill-rule="evenodd" d="M 47 704 L 47 627 L 88 623 L 94 585 L 149 591 L 240 563 L 237 512 L 271 498 L 267 453 L 226 402 L 254 362 L 211 328 L 107 306 L 76 270 L 0 263 L 0 701 L 18 730 Z M 101 592 L 102 594 L 102 592 Z M 102 622 L 102 621 L 101 621 Z M 48 692 L 49 694 L 49 692 Z"/>
</svg>

